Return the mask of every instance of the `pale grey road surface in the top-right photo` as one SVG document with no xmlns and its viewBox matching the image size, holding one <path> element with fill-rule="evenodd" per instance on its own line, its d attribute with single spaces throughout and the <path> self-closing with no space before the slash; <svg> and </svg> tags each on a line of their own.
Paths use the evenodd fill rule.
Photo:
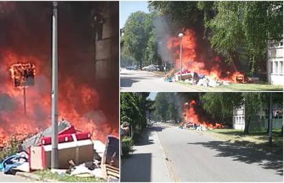
<svg viewBox="0 0 284 183">
<path fill-rule="evenodd" d="M 181 86 L 172 82 L 165 82 L 162 76 L 147 71 L 128 71 L 121 69 L 120 71 L 120 88 L 121 91 L 127 92 L 185 92 L 198 91 L 194 88 Z"/>
</svg>

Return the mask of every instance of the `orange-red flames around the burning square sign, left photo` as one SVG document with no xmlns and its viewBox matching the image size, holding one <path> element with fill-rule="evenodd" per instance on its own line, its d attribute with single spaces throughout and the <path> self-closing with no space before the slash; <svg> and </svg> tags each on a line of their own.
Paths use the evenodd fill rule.
<svg viewBox="0 0 284 183">
<path fill-rule="evenodd" d="M 51 125 L 51 78 L 50 60 L 18 55 L 8 49 L 0 51 L 0 147 L 3 147 L 12 134 L 35 134 Z M 31 76 L 34 86 L 26 88 L 25 115 L 23 92 L 21 87 L 15 86 L 26 86 L 27 78 Z M 20 82 L 14 84 L 11 77 Z M 64 80 L 59 78 L 58 120 L 64 118 L 103 142 L 108 134 L 118 136 L 118 130 L 110 125 L 99 106 L 97 90 L 75 80 L 72 76 L 64 77 Z"/>
</svg>

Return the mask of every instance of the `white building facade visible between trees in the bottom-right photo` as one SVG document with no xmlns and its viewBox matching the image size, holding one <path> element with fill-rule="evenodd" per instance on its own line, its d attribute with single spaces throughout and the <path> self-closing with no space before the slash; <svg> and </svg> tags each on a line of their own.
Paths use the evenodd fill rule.
<svg viewBox="0 0 284 183">
<path fill-rule="evenodd" d="M 245 110 L 244 104 L 233 107 L 233 128 L 244 130 L 245 127 Z"/>
</svg>

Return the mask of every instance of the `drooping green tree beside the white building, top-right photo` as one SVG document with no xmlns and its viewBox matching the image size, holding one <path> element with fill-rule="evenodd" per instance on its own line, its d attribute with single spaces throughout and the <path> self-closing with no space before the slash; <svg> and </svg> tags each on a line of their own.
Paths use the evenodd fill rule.
<svg viewBox="0 0 284 183">
<path fill-rule="evenodd" d="M 206 6 L 199 8 L 209 11 Z M 234 66 L 239 55 L 248 54 L 251 73 L 255 73 L 256 62 L 265 60 L 268 40 L 283 39 L 283 2 L 215 1 L 213 9 L 215 16 L 204 19 L 213 49 Z"/>
</svg>

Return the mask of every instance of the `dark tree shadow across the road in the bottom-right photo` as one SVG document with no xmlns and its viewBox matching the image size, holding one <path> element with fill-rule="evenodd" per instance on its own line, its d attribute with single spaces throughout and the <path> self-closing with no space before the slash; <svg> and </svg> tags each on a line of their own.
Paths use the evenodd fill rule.
<svg viewBox="0 0 284 183">
<path fill-rule="evenodd" d="M 217 157 L 231 157 L 235 161 L 248 164 L 258 163 L 264 169 L 274 169 L 276 174 L 283 175 L 283 156 L 274 156 L 250 147 L 244 147 L 244 144 L 230 143 L 228 141 L 210 141 L 209 143 L 187 143 L 190 145 L 202 145 L 204 147 L 215 149 L 220 153 Z"/>
</svg>

